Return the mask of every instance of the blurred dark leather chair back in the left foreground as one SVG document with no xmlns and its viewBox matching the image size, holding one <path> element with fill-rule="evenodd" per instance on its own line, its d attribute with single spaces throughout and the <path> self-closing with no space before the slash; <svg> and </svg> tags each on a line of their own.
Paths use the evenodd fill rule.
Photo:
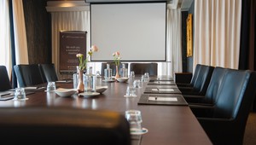
<svg viewBox="0 0 256 145">
<path fill-rule="evenodd" d="M 0 109 L 0 116 L 2 143 L 131 144 L 130 126 L 125 116 L 112 111 L 73 107 L 5 107 Z"/>
</svg>

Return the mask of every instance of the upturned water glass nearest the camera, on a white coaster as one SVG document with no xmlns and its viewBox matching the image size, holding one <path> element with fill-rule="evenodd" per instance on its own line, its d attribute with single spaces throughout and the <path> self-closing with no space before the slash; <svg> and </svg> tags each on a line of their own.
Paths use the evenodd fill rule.
<svg viewBox="0 0 256 145">
<path fill-rule="evenodd" d="M 130 124 L 131 131 L 142 131 L 142 113 L 139 110 L 125 111 L 125 118 Z"/>
</svg>

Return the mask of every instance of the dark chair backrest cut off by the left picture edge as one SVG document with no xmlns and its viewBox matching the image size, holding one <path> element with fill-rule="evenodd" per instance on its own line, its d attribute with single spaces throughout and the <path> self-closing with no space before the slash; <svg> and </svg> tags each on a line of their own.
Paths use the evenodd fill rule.
<svg viewBox="0 0 256 145">
<path fill-rule="evenodd" d="M 11 88 L 6 67 L 0 66 L 0 91 L 10 90 Z"/>
</svg>

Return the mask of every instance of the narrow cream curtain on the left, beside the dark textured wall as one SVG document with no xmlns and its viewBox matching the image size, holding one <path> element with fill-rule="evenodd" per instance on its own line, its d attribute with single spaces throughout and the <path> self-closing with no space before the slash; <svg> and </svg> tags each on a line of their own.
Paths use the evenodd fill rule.
<svg viewBox="0 0 256 145">
<path fill-rule="evenodd" d="M 15 30 L 15 59 L 16 64 L 28 64 L 26 26 L 24 20 L 22 0 L 13 2 L 14 30 Z"/>
</svg>

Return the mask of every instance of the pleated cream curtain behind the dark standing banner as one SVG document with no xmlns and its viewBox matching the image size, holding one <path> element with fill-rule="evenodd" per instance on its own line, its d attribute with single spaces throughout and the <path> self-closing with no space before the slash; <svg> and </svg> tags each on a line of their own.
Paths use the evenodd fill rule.
<svg viewBox="0 0 256 145">
<path fill-rule="evenodd" d="M 86 31 L 87 49 L 90 49 L 90 12 L 89 11 L 69 11 L 52 12 L 52 62 L 59 70 L 59 35 L 61 31 Z M 57 71 L 59 72 L 59 71 Z"/>
</svg>

